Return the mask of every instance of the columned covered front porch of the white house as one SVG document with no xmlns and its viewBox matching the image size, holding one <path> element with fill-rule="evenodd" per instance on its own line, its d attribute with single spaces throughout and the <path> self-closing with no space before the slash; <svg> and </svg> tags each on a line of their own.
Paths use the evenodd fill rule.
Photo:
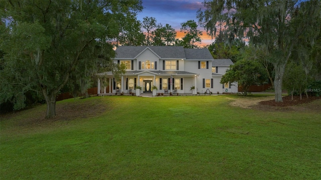
<svg viewBox="0 0 321 180">
<path fill-rule="evenodd" d="M 141 87 L 138 95 L 156 93 L 165 94 L 197 94 L 191 87 L 197 89 L 198 74 L 185 71 L 127 71 L 117 80 L 111 72 L 98 74 L 98 95 L 132 94 L 136 87 Z M 106 82 L 107 81 L 107 82 Z M 109 86 L 108 86 L 109 85 Z M 156 89 L 153 88 L 156 87 Z M 109 87 L 109 89 L 106 89 Z"/>
</svg>

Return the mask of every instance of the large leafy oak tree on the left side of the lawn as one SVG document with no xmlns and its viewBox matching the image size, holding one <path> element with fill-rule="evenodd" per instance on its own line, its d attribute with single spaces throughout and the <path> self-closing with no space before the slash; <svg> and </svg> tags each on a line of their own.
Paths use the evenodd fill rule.
<svg viewBox="0 0 321 180">
<path fill-rule="evenodd" d="M 14 97 L 19 109 L 33 90 L 42 93 L 52 118 L 59 90 L 108 63 L 114 56 L 108 42 L 142 6 L 140 0 L 9 0 L 0 10 L 1 101 Z"/>
</svg>

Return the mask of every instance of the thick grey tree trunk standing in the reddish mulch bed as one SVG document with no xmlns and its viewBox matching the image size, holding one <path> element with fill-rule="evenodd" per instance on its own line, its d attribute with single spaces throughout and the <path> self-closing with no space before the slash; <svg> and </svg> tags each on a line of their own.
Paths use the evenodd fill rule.
<svg viewBox="0 0 321 180">
<path fill-rule="evenodd" d="M 282 80 L 285 70 L 285 64 L 273 63 L 275 70 L 274 78 L 274 91 L 275 91 L 275 102 L 283 102 L 282 100 Z"/>
</svg>

